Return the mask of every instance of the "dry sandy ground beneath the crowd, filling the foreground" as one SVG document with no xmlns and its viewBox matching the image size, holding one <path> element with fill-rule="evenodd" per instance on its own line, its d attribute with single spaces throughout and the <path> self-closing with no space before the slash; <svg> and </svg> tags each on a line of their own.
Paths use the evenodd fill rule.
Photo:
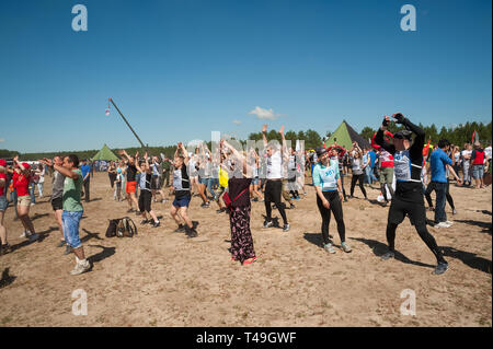
<svg viewBox="0 0 493 349">
<path fill-rule="evenodd" d="M 398 230 L 397 259 L 380 260 L 388 208 L 357 198 L 344 203 L 353 252 L 329 255 L 321 247 L 314 189 L 306 188 L 308 195 L 287 211 L 288 233 L 261 229 L 264 203 L 253 202 L 259 260 L 248 266 L 230 261 L 228 217 L 200 208 L 198 198 L 191 206 L 199 222 L 196 239 L 172 232 L 171 200 L 153 203 L 161 228 L 106 239 L 107 219 L 127 210 L 113 200 L 106 174 L 92 179 L 93 201 L 84 205 L 80 236 L 93 263 L 84 275 L 69 275 L 74 257 L 56 247 L 60 234 L 46 198 L 31 211 L 38 242 L 18 237 L 22 226 L 9 208 L 5 224 L 15 249 L 0 256 L 0 326 L 492 326 L 491 187 L 451 187 L 458 214 L 448 206 L 447 213 L 455 224 L 429 228 L 450 265 L 443 276 L 432 275 L 436 260 L 408 220 Z M 376 199 L 379 190 L 367 190 Z M 359 188 L 355 195 L 363 198 Z M 339 246 L 334 220 L 330 232 Z M 72 314 L 77 289 L 87 292 L 88 315 Z M 401 315 L 404 289 L 415 292 L 415 316 Z"/>
</svg>

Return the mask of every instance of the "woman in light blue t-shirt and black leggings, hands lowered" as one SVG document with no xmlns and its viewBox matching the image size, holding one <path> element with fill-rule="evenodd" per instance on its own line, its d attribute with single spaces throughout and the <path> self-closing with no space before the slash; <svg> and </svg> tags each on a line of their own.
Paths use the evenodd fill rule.
<svg viewBox="0 0 493 349">
<path fill-rule="evenodd" d="M 329 239 L 329 223 L 331 222 L 331 211 L 337 222 L 337 232 L 341 239 L 341 246 L 344 252 L 351 252 L 349 245 L 345 242 L 345 225 L 342 209 L 342 183 L 339 171 L 339 163 L 329 158 L 325 148 L 317 148 L 319 163 L 313 167 L 313 186 L 317 190 L 317 206 L 322 216 L 322 240 L 323 248 L 335 253 L 332 242 Z"/>
</svg>

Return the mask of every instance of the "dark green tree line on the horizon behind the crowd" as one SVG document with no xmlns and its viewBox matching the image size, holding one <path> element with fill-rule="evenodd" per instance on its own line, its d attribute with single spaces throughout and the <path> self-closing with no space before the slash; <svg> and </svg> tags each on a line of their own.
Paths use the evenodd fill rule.
<svg viewBox="0 0 493 349">
<path fill-rule="evenodd" d="M 446 128 L 443 126 L 439 130 L 435 126 L 435 124 L 432 124 L 431 126 L 423 126 L 422 124 L 419 125 L 421 128 L 424 129 L 426 133 L 426 140 L 431 140 L 432 144 L 436 144 L 438 140 L 440 139 L 447 139 L 454 144 L 457 144 L 459 147 L 463 147 L 466 142 L 471 142 L 472 133 L 474 130 L 479 135 L 480 141 L 485 146 L 486 143 L 491 143 L 492 139 L 492 125 L 491 121 L 489 124 L 483 123 L 466 123 L 460 124 L 457 127 L 449 127 Z M 389 131 L 392 133 L 397 132 L 398 130 L 402 129 L 402 126 L 390 124 L 389 125 Z M 364 127 L 362 129 L 362 137 L 365 139 L 370 139 L 375 132 L 377 131 L 376 128 L 371 127 Z M 300 130 L 300 131 L 294 131 L 289 130 L 285 132 L 286 140 L 290 140 L 293 147 L 296 144 L 296 140 L 305 140 L 305 149 L 313 149 L 316 147 L 320 147 L 322 144 L 324 137 L 330 137 L 331 131 L 326 131 L 324 135 L 320 135 L 316 130 L 308 129 L 308 130 Z M 271 130 L 266 135 L 268 140 L 276 139 L 280 142 L 280 135 L 277 130 Z M 259 141 L 262 140 L 262 132 L 254 132 L 250 133 L 248 139 Z M 245 140 L 241 140 L 241 142 L 244 144 Z M 210 149 L 211 143 L 208 142 L 207 146 Z M 124 148 L 125 151 L 129 154 L 135 154 L 137 151 L 139 151 L 140 154 L 144 154 L 145 150 L 139 147 L 130 147 L 130 148 Z M 112 149 L 112 151 L 115 153 L 115 155 L 119 156 L 118 154 L 119 149 Z M 149 147 L 148 151 L 149 154 L 152 155 L 159 155 L 164 154 L 167 158 L 172 158 L 174 154 L 174 151 L 176 150 L 176 146 L 167 146 L 167 147 Z M 83 151 L 57 151 L 57 152 L 45 152 L 45 153 L 21 153 L 18 151 L 7 150 L 7 149 L 0 149 L 0 158 L 1 159 L 11 159 L 15 155 L 19 155 L 19 159 L 21 160 L 38 160 L 43 158 L 53 158 L 57 154 L 77 154 L 79 159 L 91 159 L 94 156 L 99 150 L 83 150 Z"/>
</svg>

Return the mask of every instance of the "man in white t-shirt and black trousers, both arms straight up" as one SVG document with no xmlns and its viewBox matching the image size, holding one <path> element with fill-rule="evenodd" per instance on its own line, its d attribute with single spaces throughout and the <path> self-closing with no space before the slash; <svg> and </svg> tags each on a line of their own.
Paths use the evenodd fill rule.
<svg viewBox="0 0 493 349">
<path fill-rule="evenodd" d="M 289 231 L 289 224 L 286 217 L 285 203 L 280 201 L 280 195 L 283 193 L 283 156 L 284 150 L 279 148 L 278 143 L 267 142 L 267 125 L 262 127 L 262 138 L 264 140 L 265 156 L 266 156 L 266 183 L 265 183 L 265 213 L 266 218 L 264 221 L 264 228 L 273 226 L 272 222 L 272 203 L 275 203 L 277 210 L 279 210 L 280 217 L 283 218 L 284 226 L 283 231 Z M 284 139 L 284 126 L 280 128 L 280 137 L 283 138 L 283 144 L 285 144 Z"/>
</svg>

